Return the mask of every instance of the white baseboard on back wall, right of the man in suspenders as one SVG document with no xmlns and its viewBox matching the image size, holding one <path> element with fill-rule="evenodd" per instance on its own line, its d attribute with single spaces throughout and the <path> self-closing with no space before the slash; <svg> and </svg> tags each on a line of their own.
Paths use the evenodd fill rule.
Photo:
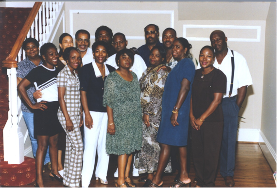
<svg viewBox="0 0 277 188">
<path fill-rule="evenodd" d="M 237 141 L 259 142 L 260 130 L 253 128 L 239 128 Z"/>
</svg>

